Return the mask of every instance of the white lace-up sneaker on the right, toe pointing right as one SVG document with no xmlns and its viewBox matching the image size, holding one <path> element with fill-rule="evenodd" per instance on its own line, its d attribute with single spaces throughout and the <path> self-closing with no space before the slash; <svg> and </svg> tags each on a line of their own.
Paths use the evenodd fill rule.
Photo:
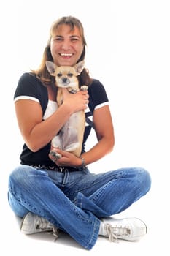
<svg viewBox="0 0 170 256">
<path fill-rule="evenodd" d="M 147 226 L 137 218 L 107 217 L 101 219 L 101 223 L 101 234 L 109 237 L 109 241 L 117 241 L 117 239 L 136 241 L 147 233 Z"/>
</svg>

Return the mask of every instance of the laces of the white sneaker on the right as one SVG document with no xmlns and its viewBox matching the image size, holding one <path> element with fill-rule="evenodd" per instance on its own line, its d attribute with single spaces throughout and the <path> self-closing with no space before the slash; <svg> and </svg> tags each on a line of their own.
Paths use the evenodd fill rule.
<svg viewBox="0 0 170 256">
<path fill-rule="evenodd" d="M 129 234 L 131 233 L 130 228 L 125 226 L 112 226 L 110 224 L 106 224 L 105 229 L 107 232 L 107 236 L 109 237 L 109 241 L 111 242 L 118 242 L 117 238 L 119 236 L 129 236 Z"/>
</svg>

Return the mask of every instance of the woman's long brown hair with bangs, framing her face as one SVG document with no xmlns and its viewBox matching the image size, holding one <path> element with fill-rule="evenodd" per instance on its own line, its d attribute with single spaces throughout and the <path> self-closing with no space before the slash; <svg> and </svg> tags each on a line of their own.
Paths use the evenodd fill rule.
<svg viewBox="0 0 170 256">
<path fill-rule="evenodd" d="M 58 26 L 64 25 L 64 24 L 69 25 L 71 31 L 74 30 L 75 26 L 79 29 L 84 48 L 82 50 L 82 55 L 80 56 L 80 59 L 77 62 L 85 59 L 85 47 L 87 43 L 85 40 L 84 29 L 80 20 L 72 16 L 65 16 L 65 17 L 59 18 L 58 20 L 55 20 L 50 28 L 50 38 L 48 39 L 47 46 L 45 47 L 45 50 L 42 56 L 42 62 L 39 65 L 38 69 L 32 70 L 32 72 L 36 75 L 36 77 L 39 78 L 39 80 L 41 80 L 42 83 L 44 83 L 47 86 L 55 86 L 55 78 L 51 76 L 50 73 L 47 71 L 47 67 L 45 64 L 46 61 L 53 61 L 53 57 L 50 52 L 50 40 L 53 36 L 54 31 L 58 29 Z M 78 76 L 78 79 L 79 79 L 80 86 L 82 85 L 89 86 L 92 81 L 88 73 L 88 69 L 85 69 L 85 68 L 82 70 L 81 74 Z"/>
</svg>

